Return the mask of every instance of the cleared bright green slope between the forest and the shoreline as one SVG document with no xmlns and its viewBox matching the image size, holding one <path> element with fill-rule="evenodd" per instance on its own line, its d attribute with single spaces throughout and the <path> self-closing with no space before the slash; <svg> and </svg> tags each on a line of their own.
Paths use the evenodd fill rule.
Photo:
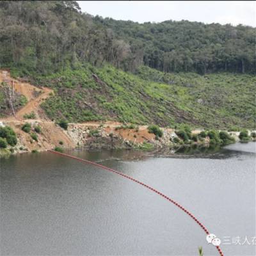
<svg viewBox="0 0 256 256">
<path fill-rule="evenodd" d="M 255 127 L 256 79 L 248 74 L 200 76 L 140 67 L 134 75 L 110 65 L 95 68 L 86 64 L 49 76 L 34 75 L 33 82 L 54 89 L 56 94 L 42 104 L 52 120 L 188 124 L 208 129 Z"/>
</svg>

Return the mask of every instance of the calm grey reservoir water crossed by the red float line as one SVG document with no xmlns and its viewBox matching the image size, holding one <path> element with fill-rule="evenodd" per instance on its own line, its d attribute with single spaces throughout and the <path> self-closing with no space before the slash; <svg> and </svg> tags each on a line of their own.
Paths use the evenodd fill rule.
<svg viewBox="0 0 256 256">
<path fill-rule="evenodd" d="M 256 233 L 255 145 L 206 156 L 69 153 L 177 200 L 226 243 L 225 255 L 256 255 L 256 246 L 232 241 L 250 242 Z M 198 246 L 205 256 L 218 255 L 195 221 L 131 180 L 47 152 L 0 159 L 0 168 L 1 255 L 195 256 Z"/>
</svg>

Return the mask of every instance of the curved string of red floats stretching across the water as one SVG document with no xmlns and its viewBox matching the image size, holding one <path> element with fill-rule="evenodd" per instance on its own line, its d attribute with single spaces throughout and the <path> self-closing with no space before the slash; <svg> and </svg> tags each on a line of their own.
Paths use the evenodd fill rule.
<svg viewBox="0 0 256 256">
<path fill-rule="evenodd" d="M 64 153 L 60 153 L 60 152 L 57 152 L 57 151 L 54 151 L 54 150 L 48 150 L 48 151 L 51 152 L 51 153 L 54 153 L 54 154 L 58 154 L 58 155 L 60 155 L 60 156 L 69 157 L 69 158 L 75 159 L 75 160 L 77 160 L 77 161 L 81 161 L 81 162 L 83 162 L 83 163 L 88 163 L 88 164 L 92 164 L 92 165 L 94 165 L 94 166 L 97 166 L 97 167 L 99 167 L 99 168 L 103 168 L 104 170 L 108 170 L 109 172 L 116 173 L 116 174 L 118 174 L 118 175 L 120 175 L 120 176 L 122 176 L 122 177 L 124 177 L 124 178 L 126 178 L 126 179 L 132 180 L 133 182 L 136 182 L 136 183 L 140 184 L 141 186 L 144 186 L 144 187 L 147 188 L 147 189 L 152 190 L 154 193 L 157 193 L 159 196 L 162 196 L 163 198 L 165 198 L 166 200 L 168 200 L 168 201 L 171 202 L 172 204 L 174 204 L 174 205 L 176 205 L 177 207 L 179 207 L 182 211 L 184 211 L 186 214 L 188 214 L 188 216 L 191 217 L 191 218 L 204 230 L 204 232 L 205 232 L 207 235 L 210 234 L 209 231 L 207 230 L 207 228 L 205 228 L 205 226 L 204 226 L 197 218 L 195 218 L 195 216 L 194 216 L 191 212 L 189 212 L 189 211 L 186 210 L 184 207 L 182 207 L 182 205 L 180 205 L 180 204 L 178 204 L 177 202 L 175 202 L 175 200 L 172 200 L 172 198 L 170 198 L 170 197 L 164 195 L 163 193 L 161 193 L 161 192 L 157 191 L 156 189 L 154 189 L 154 188 L 148 186 L 147 184 L 144 184 L 143 182 L 140 182 L 139 180 L 133 179 L 132 177 L 129 177 L 128 175 L 125 175 L 124 173 L 121 173 L 121 172 L 118 172 L 118 171 L 116 171 L 116 170 L 113 170 L 113 169 L 111 169 L 111 168 L 109 168 L 109 167 L 107 167 L 107 166 L 104 166 L 104 165 L 102 165 L 102 164 L 97 164 L 97 163 L 94 163 L 94 162 L 89 161 L 89 160 L 81 159 L 81 158 L 79 158 L 79 157 L 71 156 L 71 155 L 64 154 Z M 215 247 L 217 248 L 218 252 L 220 253 L 220 256 L 224 256 L 224 255 L 223 255 L 223 252 L 221 251 L 220 246 L 215 246 Z"/>
</svg>

